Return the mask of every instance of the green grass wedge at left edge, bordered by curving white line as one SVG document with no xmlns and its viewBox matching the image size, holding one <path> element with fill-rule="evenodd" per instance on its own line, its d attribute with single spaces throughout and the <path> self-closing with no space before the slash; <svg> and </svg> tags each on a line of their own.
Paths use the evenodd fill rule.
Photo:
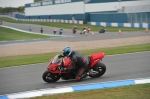
<svg viewBox="0 0 150 99">
<path fill-rule="evenodd" d="M 0 27 L 0 41 L 10 41 L 10 40 L 25 40 L 25 39 L 44 39 L 51 38 L 50 36 L 29 34 L 24 32 L 15 31 L 8 28 Z"/>
</svg>

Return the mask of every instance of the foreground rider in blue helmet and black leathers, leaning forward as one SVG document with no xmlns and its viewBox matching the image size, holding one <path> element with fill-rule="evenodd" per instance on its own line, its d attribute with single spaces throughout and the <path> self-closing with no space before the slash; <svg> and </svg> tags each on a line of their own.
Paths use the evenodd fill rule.
<svg viewBox="0 0 150 99">
<path fill-rule="evenodd" d="M 88 57 L 85 57 L 77 51 L 73 51 L 69 46 L 63 49 L 63 55 L 70 58 L 70 60 L 72 61 L 72 65 L 70 68 L 63 67 L 62 71 L 73 71 L 75 69 L 75 66 L 77 65 L 79 66 L 79 69 L 76 75 L 76 80 L 80 81 L 87 76 L 85 70 L 89 65 Z"/>
</svg>

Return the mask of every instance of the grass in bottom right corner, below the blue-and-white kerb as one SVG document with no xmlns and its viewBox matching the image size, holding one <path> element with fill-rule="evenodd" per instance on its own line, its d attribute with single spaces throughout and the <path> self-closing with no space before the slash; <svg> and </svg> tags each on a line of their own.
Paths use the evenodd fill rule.
<svg viewBox="0 0 150 99">
<path fill-rule="evenodd" d="M 150 84 L 81 91 L 30 99 L 150 99 Z"/>
</svg>

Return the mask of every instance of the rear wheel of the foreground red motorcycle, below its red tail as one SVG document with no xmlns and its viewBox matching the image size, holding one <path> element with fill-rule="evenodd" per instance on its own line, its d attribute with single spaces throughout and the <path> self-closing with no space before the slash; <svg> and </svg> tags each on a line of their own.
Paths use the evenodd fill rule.
<svg viewBox="0 0 150 99">
<path fill-rule="evenodd" d="M 106 66 L 102 62 L 97 63 L 92 69 L 89 71 L 89 76 L 92 78 L 100 77 L 106 72 Z"/>
</svg>

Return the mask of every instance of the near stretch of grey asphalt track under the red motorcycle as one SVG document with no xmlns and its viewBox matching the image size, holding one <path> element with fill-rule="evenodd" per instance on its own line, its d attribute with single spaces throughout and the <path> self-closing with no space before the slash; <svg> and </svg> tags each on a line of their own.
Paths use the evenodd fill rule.
<svg viewBox="0 0 150 99">
<path fill-rule="evenodd" d="M 100 78 L 89 78 L 81 82 L 59 80 L 45 83 L 42 74 L 48 63 L 0 69 L 0 95 L 16 92 L 71 86 L 79 84 L 145 78 L 150 75 L 150 52 L 106 56 L 103 63 L 106 73 Z"/>
</svg>

